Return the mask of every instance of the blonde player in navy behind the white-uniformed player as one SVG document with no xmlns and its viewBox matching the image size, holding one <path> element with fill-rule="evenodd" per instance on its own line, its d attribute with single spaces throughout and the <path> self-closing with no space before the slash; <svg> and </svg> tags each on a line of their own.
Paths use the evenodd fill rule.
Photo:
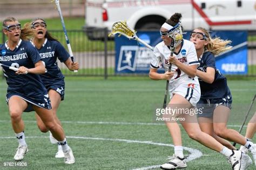
<svg viewBox="0 0 256 170">
<path fill-rule="evenodd" d="M 227 86 L 226 77 L 215 67 L 214 55 L 230 49 L 231 46 L 227 46 L 227 44 L 231 41 L 218 37 L 212 39 L 208 31 L 202 27 L 190 33 L 190 41 L 196 47 L 200 62 L 197 76 L 199 77 L 201 97 L 197 105 L 203 111 L 202 114 L 198 114 L 201 130 L 229 148 L 236 149 L 224 139 L 245 146 L 255 158 L 256 145 L 252 141 L 246 140 L 239 132 L 227 129 L 226 126 L 231 111 L 232 96 Z M 248 155 L 243 154 L 241 164 L 241 169 L 245 169 L 252 164 L 252 160 Z"/>
</svg>

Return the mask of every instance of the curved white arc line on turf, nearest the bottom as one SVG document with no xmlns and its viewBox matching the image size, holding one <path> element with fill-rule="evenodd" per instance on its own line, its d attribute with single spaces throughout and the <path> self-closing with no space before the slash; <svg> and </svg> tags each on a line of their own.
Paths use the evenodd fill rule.
<svg viewBox="0 0 256 170">
<path fill-rule="evenodd" d="M 0 137 L 0 139 L 15 139 L 16 137 Z M 26 136 L 26 138 L 49 138 L 49 136 Z M 126 143 L 137 143 L 137 144 L 148 144 L 148 145 L 157 145 L 157 146 L 169 146 L 174 147 L 172 144 L 164 144 L 164 143 L 156 143 L 153 141 L 140 141 L 140 140 L 128 140 L 128 139 L 111 139 L 111 138 L 92 138 L 92 137 L 78 137 L 78 136 L 66 136 L 66 138 L 70 139 L 88 139 L 88 140 L 107 140 L 107 141 L 120 141 L 120 142 L 126 142 Z M 185 147 L 183 146 L 183 149 L 190 152 L 188 157 L 186 158 L 187 161 L 192 161 L 194 159 L 200 158 L 203 156 L 203 153 L 197 149 Z M 152 166 L 146 166 L 136 169 L 152 169 L 152 168 L 159 168 L 160 165 L 152 165 Z"/>
</svg>

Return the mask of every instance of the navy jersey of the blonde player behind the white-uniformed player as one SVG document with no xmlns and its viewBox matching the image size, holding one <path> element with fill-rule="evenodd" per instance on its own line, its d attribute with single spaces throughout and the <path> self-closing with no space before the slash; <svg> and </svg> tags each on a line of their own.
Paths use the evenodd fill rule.
<svg viewBox="0 0 256 170">
<path fill-rule="evenodd" d="M 212 84 L 206 83 L 199 79 L 201 88 L 201 98 L 223 98 L 230 93 L 230 89 L 227 86 L 226 77 L 219 72 L 215 67 L 215 57 L 211 52 L 205 52 L 201 58 L 199 58 L 200 66 L 197 68 L 203 72 L 206 72 L 207 67 L 215 69 L 214 81 Z"/>
</svg>

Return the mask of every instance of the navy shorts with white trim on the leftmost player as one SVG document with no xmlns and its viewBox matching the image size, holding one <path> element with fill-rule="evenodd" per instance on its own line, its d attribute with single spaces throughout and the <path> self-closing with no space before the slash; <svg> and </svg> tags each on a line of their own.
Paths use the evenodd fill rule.
<svg viewBox="0 0 256 170">
<path fill-rule="evenodd" d="M 46 94 L 42 97 L 39 97 L 39 98 L 31 98 L 31 97 L 27 97 L 22 94 L 18 94 L 18 93 L 10 91 L 6 94 L 6 103 L 7 104 L 9 102 L 9 99 L 11 98 L 11 96 L 21 97 L 24 101 L 28 102 L 28 107 L 24 110 L 24 112 L 35 111 L 33 109 L 32 105 L 36 105 L 39 108 L 51 110 L 51 101 L 50 101 L 48 94 Z"/>
</svg>

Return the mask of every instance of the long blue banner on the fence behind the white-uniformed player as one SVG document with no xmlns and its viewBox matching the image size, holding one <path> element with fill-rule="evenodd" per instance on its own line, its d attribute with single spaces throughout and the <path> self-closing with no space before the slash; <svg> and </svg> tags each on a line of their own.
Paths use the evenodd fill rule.
<svg viewBox="0 0 256 170">
<path fill-rule="evenodd" d="M 161 42 L 158 31 L 137 32 L 137 36 L 152 47 Z M 215 36 L 231 40 L 233 48 L 216 56 L 216 67 L 223 74 L 247 74 L 247 32 L 246 31 L 214 31 Z M 190 39 L 190 32 L 184 34 L 184 39 Z M 147 74 L 154 58 L 153 52 L 136 40 L 124 36 L 116 36 L 116 67 L 115 72 Z M 159 72 L 164 72 L 160 69 Z"/>
</svg>

